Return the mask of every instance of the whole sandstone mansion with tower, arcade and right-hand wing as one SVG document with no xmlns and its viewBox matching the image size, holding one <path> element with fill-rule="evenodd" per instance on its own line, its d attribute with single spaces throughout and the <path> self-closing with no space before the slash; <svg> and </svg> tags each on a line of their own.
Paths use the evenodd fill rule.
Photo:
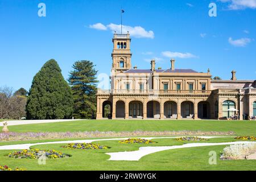
<svg viewBox="0 0 256 182">
<path fill-rule="evenodd" d="M 131 67 L 131 39 L 114 34 L 111 89 L 97 92 L 97 119 L 238 119 L 256 116 L 256 81 L 212 80 L 210 70 Z"/>
</svg>

